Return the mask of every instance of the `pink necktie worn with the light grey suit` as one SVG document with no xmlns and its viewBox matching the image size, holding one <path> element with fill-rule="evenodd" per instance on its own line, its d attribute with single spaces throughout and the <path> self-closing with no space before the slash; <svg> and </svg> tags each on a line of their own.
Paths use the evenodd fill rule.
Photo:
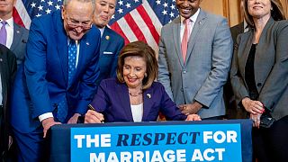
<svg viewBox="0 0 288 162">
<path fill-rule="evenodd" d="M 185 19 L 184 20 L 184 35 L 183 35 L 183 39 L 181 42 L 181 50 L 182 50 L 182 56 L 183 56 L 183 60 L 185 62 L 185 58 L 187 55 L 187 49 L 188 49 L 188 40 L 189 40 L 189 36 L 190 36 L 190 28 L 191 28 L 191 21 L 190 19 Z"/>
</svg>

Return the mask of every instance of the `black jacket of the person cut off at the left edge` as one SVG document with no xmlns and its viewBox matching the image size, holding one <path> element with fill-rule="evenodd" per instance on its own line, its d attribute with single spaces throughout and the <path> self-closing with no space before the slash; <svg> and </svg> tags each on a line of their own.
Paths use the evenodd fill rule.
<svg viewBox="0 0 288 162">
<path fill-rule="evenodd" d="M 8 147 L 8 118 L 10 108 L 10 89 L 13 85 L 17 65 L 14 53 L 0 44 L 0 74 L 2 83 L 3 109 L 0 108 L 0 159 L 4 156 Z"/>
</svg>

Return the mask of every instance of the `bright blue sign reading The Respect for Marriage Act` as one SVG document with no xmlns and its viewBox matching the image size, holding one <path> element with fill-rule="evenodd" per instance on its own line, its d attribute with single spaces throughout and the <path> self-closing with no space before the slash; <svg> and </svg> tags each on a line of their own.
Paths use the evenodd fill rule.
<svg viewBox="0 0 288 162">
<path fill-rule="evenodd" d="M 70 129 L 72 162 L 241 162 L 239 123 L 131 124 Z"/>
</svg>

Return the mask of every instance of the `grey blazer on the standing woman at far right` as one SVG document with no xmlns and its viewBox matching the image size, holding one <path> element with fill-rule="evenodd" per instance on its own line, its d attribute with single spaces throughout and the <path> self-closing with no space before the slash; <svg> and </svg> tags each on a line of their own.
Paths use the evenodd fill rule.
<svg viewBox="0 0 288 162">
<path fill-rule="evenodd" d="M 254 30 L 238 36 L 230 71 L 231 84 L 237 103 L 249 96 L 245 82 L 245 66 L 251 49 Z M 255 54 L 255 82 L 258 101 L 279 120 L 288 115 L 288 22 L 270 18 L 262 31 Z"/>
</svg>

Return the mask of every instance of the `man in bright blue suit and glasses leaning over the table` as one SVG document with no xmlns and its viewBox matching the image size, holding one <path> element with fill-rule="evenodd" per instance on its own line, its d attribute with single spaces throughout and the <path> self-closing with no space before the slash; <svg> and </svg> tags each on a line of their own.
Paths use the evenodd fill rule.
<svg viewBox="0 0 288 162">
<path fill-rule="evenodd" d="M 31 22 L 24 70 L 14 84 L 18 161 L 47 160 L 47 130 L 86 112 L 99 76 L 101 36 L 93 15 L 94 0 L 64 0 L 61 11 Z"/>
</svg>

